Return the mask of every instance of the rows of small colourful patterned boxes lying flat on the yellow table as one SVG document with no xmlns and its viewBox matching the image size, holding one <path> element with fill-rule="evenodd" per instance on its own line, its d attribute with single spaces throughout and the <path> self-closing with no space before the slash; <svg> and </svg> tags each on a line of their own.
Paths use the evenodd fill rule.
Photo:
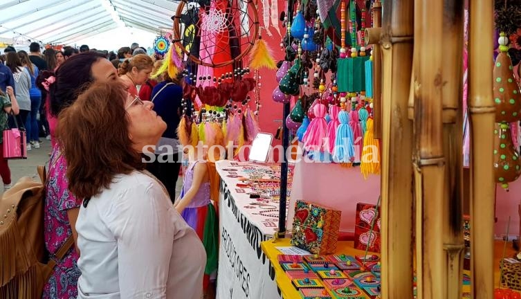
<svg viewBox="0 0 521 299">
<path fill-rule="evenodd" d="M 289 255 L 279 255 L 282 269 L 291 279 L 293 287 L 298 289 L 301 298 L 332 298 L 332 299 L 369 299 L 380 296 L 380 264 L 379 257 L 367 255 L 367 258 L 352 255 L 304 255 L 303 264 L 309 270 L 291 271 L 288 264 L 294 258 Z M 289 261 L 289 262 L 285 262 Z M 341 269 L 350 262 L 356 264 L 356 269 Z M 311 273 L 311 274 L 310 274 Z M 309 297 L 316 296 L 316 297 Z M 297 299 L 297 298 L 295 298 Z"/>
</svg>

